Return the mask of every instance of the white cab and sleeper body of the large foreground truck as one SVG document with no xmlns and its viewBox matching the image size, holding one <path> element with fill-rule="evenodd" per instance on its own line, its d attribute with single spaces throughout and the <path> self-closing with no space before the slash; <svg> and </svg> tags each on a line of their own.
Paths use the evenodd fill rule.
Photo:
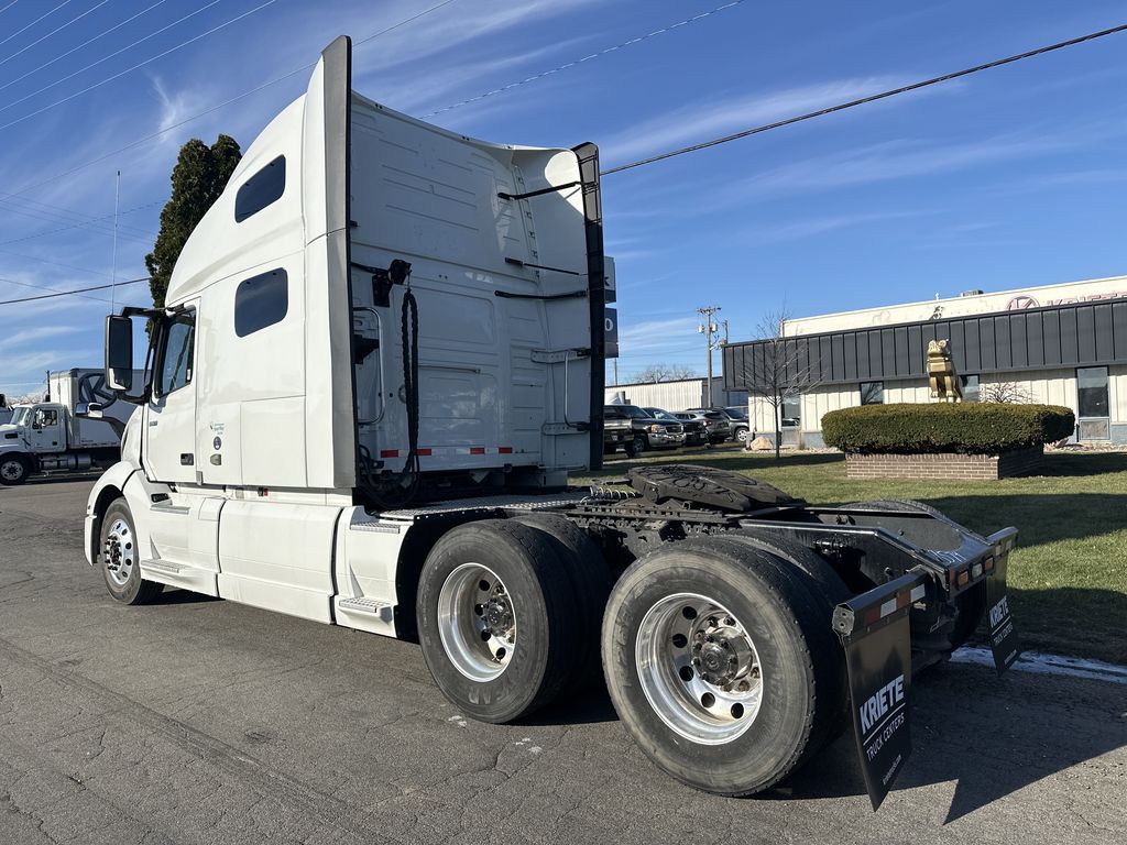
<svg viewBox="0 0 1127 845">
<path fill-rule="evenodd" d="M 393 635 L 400 555 L 420 521 L 558 493 L 358 504 L 366 456 L 394 473 L 409 451 L 408 286 L 381 301 L 373 269 L 411 265 L 421 473 L 559 487 L 602 454 L 602 240 L 583 195 L 597 158 L 589 148 L 584 176 L 574 151 L 456 135 L 349 79 L 338 39 L 185 246 L 166 326 L 190 333 L 176 355 L 158 350 L 153 383 L 169 389 L 153 390 L 91 492 L 87 557 L 97 562 L 99 513 L 124 496 L 144 578 Z M 245 214 L 241 192 L 278 175 L 273 199 Z M 254 296 L 270 315 L 247 330 Z"/>
</svg>

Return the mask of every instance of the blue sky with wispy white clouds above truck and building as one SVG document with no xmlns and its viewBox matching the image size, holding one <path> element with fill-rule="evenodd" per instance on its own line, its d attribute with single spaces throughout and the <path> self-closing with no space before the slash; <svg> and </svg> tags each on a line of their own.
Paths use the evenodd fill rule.
<svg viewBox="0 0 1127 845">
<path fill-rule="evenodd" d="M 180 144 L 225 132 L 246 149 L 308 72 L 115 150 L 435 2 L 0 0 L 0 300 L 109 281 L 118 169 L 116 274 L 144 275 Z M 454 0 L 358 46 L 354 86 L 421 116 L 721 3 Z M 748 0 L 433 119 L 489 141 L 594 141 L 613 167 L 1125 19 L 1113 2 Z M 702 372 L 704 304 L 745 339 L 781 306 L 1127 273 L 1125 55 L 1127 34 L 1111 36 L 609 176 L 620 380 Z M 0 305 L 0 392 L 100 366 L 107 294 Z M 122 301 L 148 304 L 144 286 Z"/>
</svg>

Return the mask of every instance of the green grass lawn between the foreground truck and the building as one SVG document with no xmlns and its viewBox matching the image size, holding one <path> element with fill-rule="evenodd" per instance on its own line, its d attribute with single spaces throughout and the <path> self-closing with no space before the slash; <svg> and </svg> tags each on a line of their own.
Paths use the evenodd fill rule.
<svg viewBox="0 0 1127 845">
<path fill-rule="evenodd" d="M 1054 453 L 1045 474 L 1002 481 L 853 481 L 836 454 L 761 455 L 738 450 L 611 457 L 588 479 L 622 477 L 637 463 L 735 470 L 811 504 L 919 499 L 980 534 L 1020 532 L 1009 584 L 1030 650 L 1127 664 L 1127 454 Z"/>
</svg>

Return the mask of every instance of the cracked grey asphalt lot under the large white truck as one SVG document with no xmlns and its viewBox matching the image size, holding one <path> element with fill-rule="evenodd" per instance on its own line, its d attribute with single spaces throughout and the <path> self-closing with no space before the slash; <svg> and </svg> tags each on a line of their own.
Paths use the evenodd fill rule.
<svg viewBox="0 0 1127 845">
<path fill-rule="evenodd" d="M 654 768 L 602 691 L 481 724 L 408 642 L 183 592 L 119 606 L 82 559 L 91 484 L 0 488 L 3 845 L 1127 840 L 1125 686 L 948 665 L 913 686 L 879 812 L 849 737 L 722 799 Z"/>
</svg>

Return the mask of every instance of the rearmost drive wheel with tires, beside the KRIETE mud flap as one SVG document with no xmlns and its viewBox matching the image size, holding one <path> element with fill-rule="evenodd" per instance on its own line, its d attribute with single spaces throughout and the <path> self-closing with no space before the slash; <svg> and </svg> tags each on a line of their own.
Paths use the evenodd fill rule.
<svg viewBox="0 0 1127 845">
<path fill-rule="evenodd" d="M 792 564 L 722 537 L 637 560 L 611 593 L 603 665 L 627 731 L 677 780 L 761 792 L 833 733 L 836 639 Z"/>
</svg>

